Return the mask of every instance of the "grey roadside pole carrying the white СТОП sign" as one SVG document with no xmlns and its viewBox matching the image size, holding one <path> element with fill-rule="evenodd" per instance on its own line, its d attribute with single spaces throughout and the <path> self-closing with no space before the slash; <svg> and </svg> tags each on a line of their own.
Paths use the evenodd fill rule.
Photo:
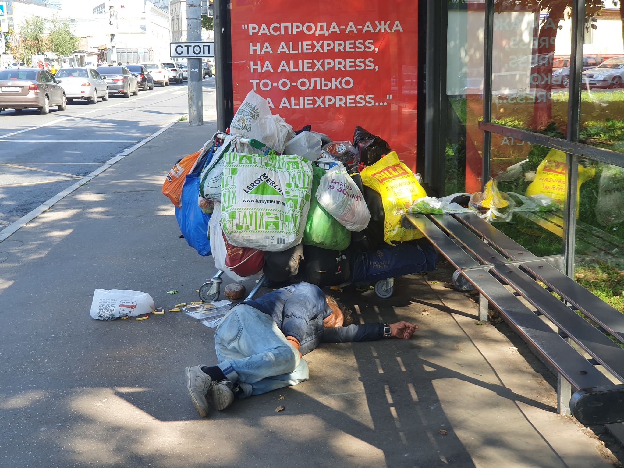
<svg viewBox="0 0 624 468">
<path fill-rule="evenodd" d="M 202 0 L 187 0 L 187 41 L 202 41 Z M 188 59 L 188 125 L 203 125 L 202 59 Z"/>
</svg>

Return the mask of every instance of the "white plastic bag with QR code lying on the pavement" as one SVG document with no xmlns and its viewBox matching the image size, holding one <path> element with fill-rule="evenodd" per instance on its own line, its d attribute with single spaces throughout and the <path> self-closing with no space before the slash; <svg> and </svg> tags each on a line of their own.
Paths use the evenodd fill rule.
<svg viewBox="0 0 624 468">
<path fill-rule="evenodd" d="M 95 290 L 90 316 L 96 320 L 136 317 L 156 310 L 154 299 L 147 293 L 128 290 Z"/>
</svg>

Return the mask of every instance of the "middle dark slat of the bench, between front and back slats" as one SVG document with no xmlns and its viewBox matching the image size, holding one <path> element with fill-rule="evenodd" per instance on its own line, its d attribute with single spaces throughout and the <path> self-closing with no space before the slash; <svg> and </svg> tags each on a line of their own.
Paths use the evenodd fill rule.
<svg viewBox="0 0 624 468">
<path fill-rule="evenodd" d="M 479 260 L 485 263 L 493 263 L 501 261 L 500 258 L 503 258 L 455 218 L 449 215 L 432 215 L 432 219 L 472 251 Z M 492 258 L 496 258 L 496 260 L 492 260 Z M 490 271 L 505 280 L 505 283 L 512 286 L 537 310 L 544 313 L 558 328 L 578 343 L 581 348 L 605 366 L 610 373 L 624 382 L 624 349 L 613 343 L 587 320 L 570 310 L 562 301 L 548 293 L 517 266 L 495 266 Z"/>
</svg>

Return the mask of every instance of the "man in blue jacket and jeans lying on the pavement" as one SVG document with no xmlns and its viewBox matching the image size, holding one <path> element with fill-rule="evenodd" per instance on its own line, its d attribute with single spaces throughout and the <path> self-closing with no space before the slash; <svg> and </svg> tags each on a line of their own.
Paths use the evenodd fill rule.
<svg viewBox="0 0 624 468">
<path fill-rule="evenodd" d="M 317 286 L 299 283 L 235 305 L 215 331 L 217 366 L 186 369 L 187 388 L 200 416 L 208 403 L 221 411 L 234 401 L 308 380 L 303 354 L 320 343 L 409 339 L 408 322 L 353 325 L 349 310 Z"/>
</svg>

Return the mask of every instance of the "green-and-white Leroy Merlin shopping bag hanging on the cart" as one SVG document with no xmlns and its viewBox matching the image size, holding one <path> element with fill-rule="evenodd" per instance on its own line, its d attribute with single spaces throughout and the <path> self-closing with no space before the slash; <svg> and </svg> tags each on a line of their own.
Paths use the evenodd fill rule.
<svg viewBox="0 0 624 468">
<path fill-rule="evenodd" d="M 300 243 L 311 183 L 311 162 L 299 156 L 226 154 L 221 227 L 228 242 L 269 252 Z"/>
</svg>

